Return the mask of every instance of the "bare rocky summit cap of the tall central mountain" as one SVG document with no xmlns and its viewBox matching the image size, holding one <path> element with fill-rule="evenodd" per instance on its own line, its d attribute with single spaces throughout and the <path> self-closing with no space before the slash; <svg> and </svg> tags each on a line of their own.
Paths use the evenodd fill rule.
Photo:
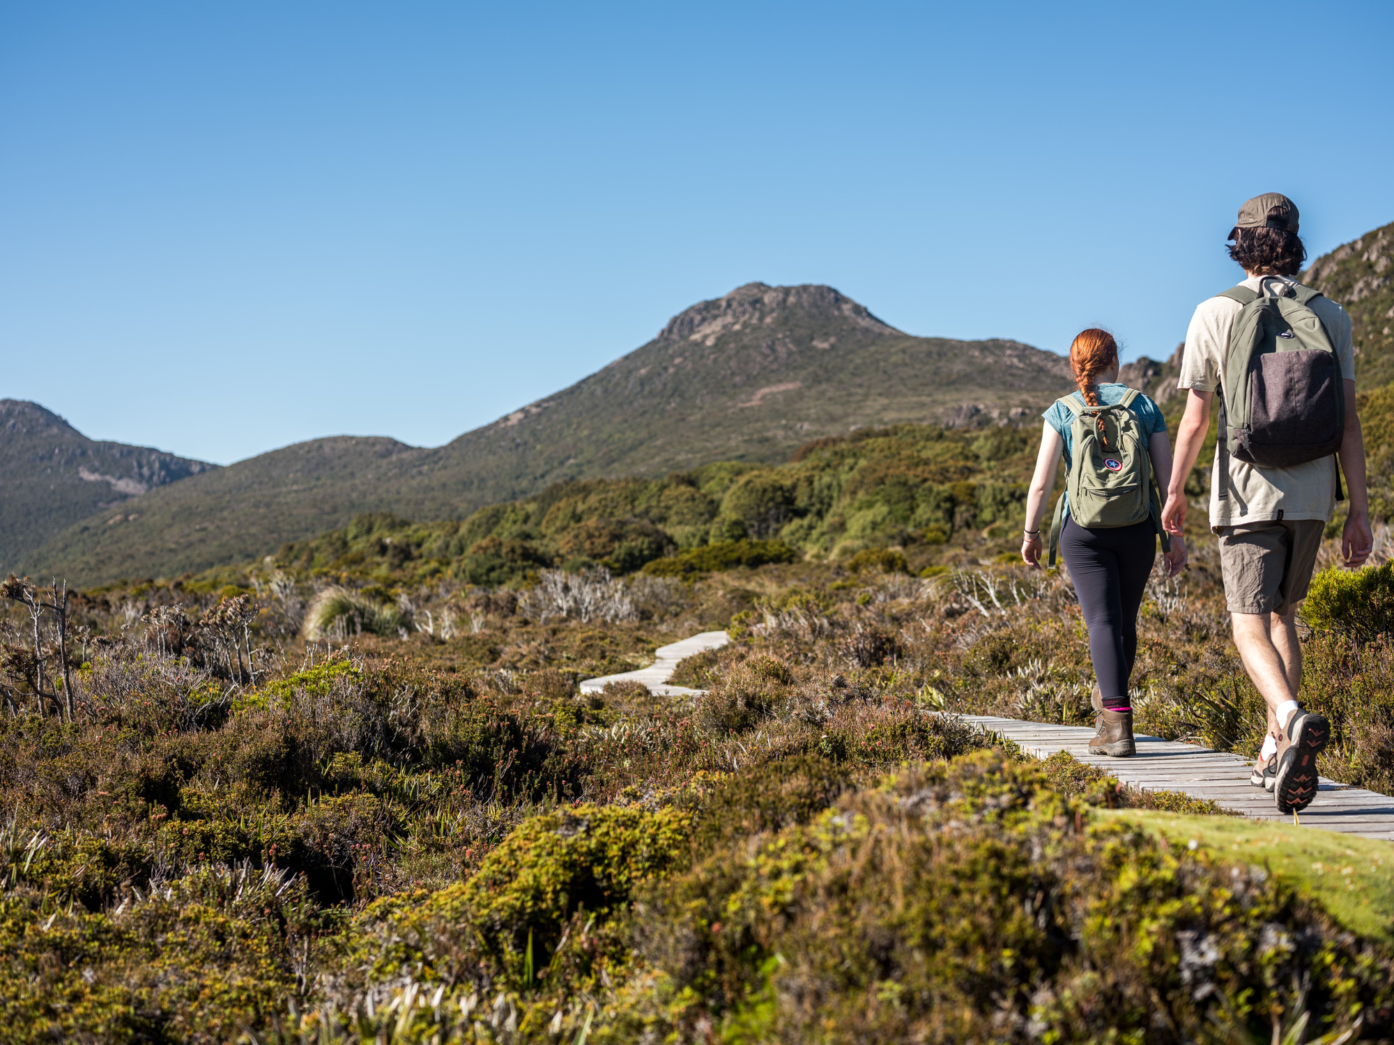
<svg viewBox="0 0 1394 1045">
<path fill-rule="evenodd" d="M 721 298 L 700 301 L 668 320 L 659 341 L 701 341 L 712 344 L 718 336 L 756 325 L 772 325 L 797 314 L 820 325 L 849 325 L 860 332 L 882 336 L 899 334 L 889 323 L 871 315 L 864 305 L 818 283 L 796 287 L 771 287 L 747 283 Z"/>
</svg>

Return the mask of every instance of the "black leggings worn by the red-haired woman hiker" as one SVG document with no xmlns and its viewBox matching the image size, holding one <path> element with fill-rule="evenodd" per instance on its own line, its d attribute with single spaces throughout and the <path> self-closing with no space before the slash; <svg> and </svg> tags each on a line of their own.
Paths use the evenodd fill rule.
<svg viewBox="0 0 1394 1045">
<path fill-rule="evenodd" d="M 1151 520 L 1085 529 L 1066 518 L 1059 550 L 1089 626 L 1089 656 L 1105 706 L 1128 706 L 1128 676 L 1138 655 L 1138 609 L 1157 556 Z"/>
</svg>

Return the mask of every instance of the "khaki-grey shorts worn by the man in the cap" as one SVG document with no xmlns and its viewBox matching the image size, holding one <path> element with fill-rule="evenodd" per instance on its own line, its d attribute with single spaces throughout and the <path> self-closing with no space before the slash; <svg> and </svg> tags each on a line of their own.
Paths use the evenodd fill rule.
<svg viewBox="0 0 1394 1045">
<path fill-rule="evenodd" d="M 1230 612 L 1291 613 L 1306 598 L 1323 529 L 1319 518 L 1220 527 L 1220 570 Z"/>
</svg>

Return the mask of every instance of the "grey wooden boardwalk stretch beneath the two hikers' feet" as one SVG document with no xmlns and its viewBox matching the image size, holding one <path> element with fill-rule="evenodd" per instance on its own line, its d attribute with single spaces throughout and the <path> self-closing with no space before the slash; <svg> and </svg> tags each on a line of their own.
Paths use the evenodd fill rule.
<svg viewBox="0 0 1394 1045">
<path fill-rule="evenodd" d="M 1271 791 L 1249 783 L 1252 762 L 1238 755 L 1139 734 L 1136 755 L 1108 758 L 1089 754 L 1093 729 L 999 719 L 993 715 L 958 718 L 979 729 L 1001 733 L 1036 758 L 1068 751 L 1080 762 L 1098 766 L 1140 790 L 1185 791 L 1196 798 L 1211 798 L 1217 805 L 1253 819 L 1292 822 L 1291 815 L 1278 812 Z M 1394 840 L 1394 798 L 1361 787 L 1347 787 L 1324 776 L 1320 777 L 1316 801 L 1298 816 L 1305 828 Z"/>
</svg>

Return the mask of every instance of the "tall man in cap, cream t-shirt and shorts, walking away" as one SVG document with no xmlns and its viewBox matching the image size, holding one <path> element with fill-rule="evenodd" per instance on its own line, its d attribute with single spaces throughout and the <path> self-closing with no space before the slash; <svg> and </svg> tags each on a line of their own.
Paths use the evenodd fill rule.
<svg viewBox="0 0 1394 1045">
<path fill-rule="evenodd" d="M 1216 401 L 1210 529 L 1220 536 L 1234 644 L 1269 706 L 1269 736 L 1250 779 L 1273 791 L 1280 812 L 1291 812 L 1316 797 L 1316 759 L 1331 732 L 1324 718 L 1298 706 L 1302 647 L 1294 613 L 1306 598 L 1341 474 L 1349 497 L 1345 566 L 1363 563 L 1373 545 L 1355 350 L 1345 309 L 1294 279 L 1306 248 L 1291 199 L 1266 192 L 1246 202 L 1230 244 L 1245 280 L 1202 301 L 1186 330 L 1178 382 L 1188 390 L 1186 410 L 1161 518 L 1168 532 L 1181 532 L 1186 477 Z"/>
</svg>

